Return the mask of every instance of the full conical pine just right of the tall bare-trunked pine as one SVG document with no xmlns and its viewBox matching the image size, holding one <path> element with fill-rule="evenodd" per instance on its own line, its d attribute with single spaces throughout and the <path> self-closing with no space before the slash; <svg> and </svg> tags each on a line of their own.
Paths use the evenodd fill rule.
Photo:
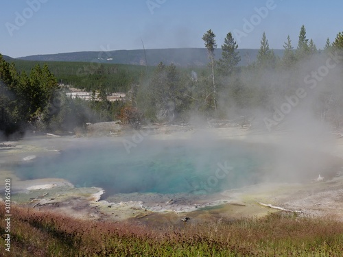
<svg viewBox="0 0 343 257">
<path fill-rule="evenodd" d="M 224 44 L 222 45 L 222 58 L 218 62 L 219 71 L 222 75 L 231 75 L 237 64 L 241 60 L 237 43 L 233 39 L 231 32 L 226 35 Z"/>
</svg>

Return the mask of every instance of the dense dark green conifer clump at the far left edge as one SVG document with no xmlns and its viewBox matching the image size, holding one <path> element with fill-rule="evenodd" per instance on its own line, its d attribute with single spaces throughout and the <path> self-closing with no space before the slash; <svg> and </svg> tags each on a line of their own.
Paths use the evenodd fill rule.
<svg viewBox="0 0 343 257">
<path fill-rule="evenodd" d="M 27 75 L 0 54 L 0 130 L 10 134 L 32 122 L 38 129 L 49 129 L 50 121 L 58 115 L 52 104 L 57 90 L 56 77 L 46 64 L 43 68 L 37 64 Z"/>
</svg>

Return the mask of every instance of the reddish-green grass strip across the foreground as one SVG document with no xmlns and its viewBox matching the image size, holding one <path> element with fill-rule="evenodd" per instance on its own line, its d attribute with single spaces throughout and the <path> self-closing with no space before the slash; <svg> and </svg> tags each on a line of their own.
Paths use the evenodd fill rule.
<svg viewBox="0 0 343 257">
<path fill-rule="evenodd" d="M 0 232 L 5 234 L 4 205 Z M 343 223 L 276 212 L 165 227 L 82 221 L 12 206 L 8 256 L 343 256 Z M 5 252 L 4 238 L 0 252 Z"/>
</svg>

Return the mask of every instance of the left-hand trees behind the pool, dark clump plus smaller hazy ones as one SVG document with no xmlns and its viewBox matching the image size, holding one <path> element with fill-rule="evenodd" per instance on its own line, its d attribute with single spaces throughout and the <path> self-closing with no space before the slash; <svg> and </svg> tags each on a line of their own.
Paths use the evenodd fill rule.
<svg viewBox="0 0 343 257">
<path fill-rule="evenodd" d="M 91 101 L 67 97 L 47 64 L 36 64 L 29 73 L 0 54 L 0 136 L 25 131 L 74 132 L 87 122 L 113 121 L 123 102 L 107 99 L 110 88 L 100 76 Z"/>
</svg>

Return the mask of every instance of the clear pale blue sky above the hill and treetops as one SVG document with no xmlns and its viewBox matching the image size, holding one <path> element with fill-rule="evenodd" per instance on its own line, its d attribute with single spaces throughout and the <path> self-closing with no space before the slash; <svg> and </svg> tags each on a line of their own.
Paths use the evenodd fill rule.
<svg viewBox="0 0 343 257">
<path fill-rule="evenodd" d="M 342 10 L 324 0 L 1 0 L 0 53 L 141 49 L 141 39 L 146 49 L 204 47 L 208 29 L 218 47 L 232 32 L 240 49 L 257 49 L 265 32 L 282 49 L 287 35 L 296 47 L 301 25 L 322 48 L 343 31 Z"/>
</svg>

